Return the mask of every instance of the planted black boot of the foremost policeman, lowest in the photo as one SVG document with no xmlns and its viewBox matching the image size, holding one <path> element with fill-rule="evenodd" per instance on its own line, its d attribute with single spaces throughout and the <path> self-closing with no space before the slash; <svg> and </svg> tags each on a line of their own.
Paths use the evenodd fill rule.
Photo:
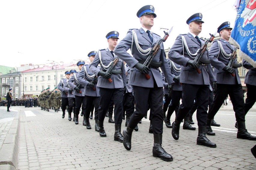
<svg viewBox="0 0 256 170">
<path fill-rule="evenodd" d="M 153 157 L 160 157 L 164 161 L 172 161 L 172 155 L 162 148 L 162 137 L 161 134 L 154 134 Z"/>
</svg>

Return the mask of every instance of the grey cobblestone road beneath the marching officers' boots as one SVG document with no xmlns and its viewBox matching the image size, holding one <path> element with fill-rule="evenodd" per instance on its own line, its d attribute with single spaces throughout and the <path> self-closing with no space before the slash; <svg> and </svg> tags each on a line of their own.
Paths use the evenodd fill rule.
<svg viewBox="0 0 256 170">
<path fill-rule="evenodd" d="M 153 134 L 148 133 L 148 119 L 143 119 L 139 131 L 133 132 L 132 149 L 127 151 L 122 143 L 114 141 L 114 124 L 108 123 L 107 118 L 104 121 L 107 137 L 100 137 L 94 130 L 94 120 L 90 120 L 89 130 L 82 125 L 80 115 L 78 125 L 68 121 L 67 114 L 64 119 L 61 116 L 61 112 L 53 110 L 21 108 L 18 169 L 256 169 L 256 159 L 250 151 L 256 142 L 236 138 L 233 111 L 219 111 L 215 116 L 221 126 L 212 127 L 216 136 L 207 137 L 217 148 L 196 145 L 197 130 L 183 130 L 182 126 L 176 141 L 171 129 L 164 125 L 162 146 L 172 154 L 172 162 L 152 156 Z M 197 127 L 196 117 L 193 118 Z M 253 135 L 256 135 L 255 119 L 256 112 L 248 112 L 246 125 Z M 123 120 L 121 131 L 124 123 Z"/>
</svg>

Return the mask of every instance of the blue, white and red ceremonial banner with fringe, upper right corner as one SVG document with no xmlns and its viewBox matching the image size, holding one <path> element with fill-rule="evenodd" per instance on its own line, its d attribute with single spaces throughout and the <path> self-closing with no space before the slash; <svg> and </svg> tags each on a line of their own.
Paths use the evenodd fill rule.
<svg viewBox="0 0 256 170">
<path fill-rule="evenodd" d="M 237 5 L 230 43 L 240 48 L 240 57 L 256 67 L 256 0 L 240 0 Z"/>
</svg>

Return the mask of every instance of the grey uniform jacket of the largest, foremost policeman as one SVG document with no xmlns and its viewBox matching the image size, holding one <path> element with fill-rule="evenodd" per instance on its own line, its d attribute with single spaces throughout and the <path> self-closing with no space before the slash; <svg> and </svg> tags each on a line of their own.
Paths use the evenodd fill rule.
<svg viewBox="0 0 256 170">
<path fill-rule="evenodd" d="M 148 37 L 148 33 L 146 33 L 143 28 L 140 28 L 139 30 L 135 30 L 135 33 L 138 38 L 139 46 L 146 50 L 148 48 L 153 48 L 156 42 L 161 39 L 160 36 L 157 34 L 152 34 L 153 37 L 153 44 L 151 40 Z M 132 42 L 133 41 L 133 42 Z M 133 45 L 132 45 L 133 44 Z M 127 50 L 131 49 L 132 55 L 127 53 Z M 122 39 L 116 46 L 114 52 L 123 59 L 130 67 L 130 78 L 129 78 L 129 84 L 140 86 L 140 87 L 146 87 L 146 88 L 153 88 L 154 87 L 154 79 L 157 83 L 157 87 L 163 87 L 163 81 L 161 78 L 161 73 L 158 68 L 150 68 L 149 76 L 150 79 L 146 79 L 145 75 L 142 74 L 137 68 L 134 66 L 139 62 L 138 60 L 146 60 L 148 56 L 142 55 L 136 47 L 135 40 L 133 38 L 132 30 L 129 30 L 126 34 L 125 38 Z M 159 51 L 157 52 L 156 56 L 153 59 L 154 62 L 162 62 L 163 66 L 161 67 L 161 70 L 163 71 L 163 74 L 165 75 L 168 84 L 174 83 L 172 75 L 170 73 L 170 68 L 166 61 L 166 54 L 164 52 L 163 44 L 161 44 Z"/>
</svg>

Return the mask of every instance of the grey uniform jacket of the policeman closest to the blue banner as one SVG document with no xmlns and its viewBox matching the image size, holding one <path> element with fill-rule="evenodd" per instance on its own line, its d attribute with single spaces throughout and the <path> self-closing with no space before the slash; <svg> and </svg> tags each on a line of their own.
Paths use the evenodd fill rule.
<svg viewBox="0 0 256 170">
<path fill-rule="evenodd" d="M 212 46 L 209 50 L 210 59 L 212 61 L 212 66 L 214 67 L 214 74 L 217 79 L 217 83 L 219 84 L 241 84 L 240 77 L 238 75 L 237 68 L 234 68 L 236 72 L 234 73 L 235 76 L 233 77 L 230 73 L 222 70 L 225 65 L 228 65 L 230 59 L 227 59 L 227 56 L 224 56 L 221 50 L 219 49 L 218 42 L 220 41 L 225 53 L 230 54 L 232 53 L 233 49 L 235 48 L 229 42 L 225 41 L 224 39 L 215 40 L 212 42 Z M 237 63 L 235 61 L 234 63 Z"/>
</svg>

